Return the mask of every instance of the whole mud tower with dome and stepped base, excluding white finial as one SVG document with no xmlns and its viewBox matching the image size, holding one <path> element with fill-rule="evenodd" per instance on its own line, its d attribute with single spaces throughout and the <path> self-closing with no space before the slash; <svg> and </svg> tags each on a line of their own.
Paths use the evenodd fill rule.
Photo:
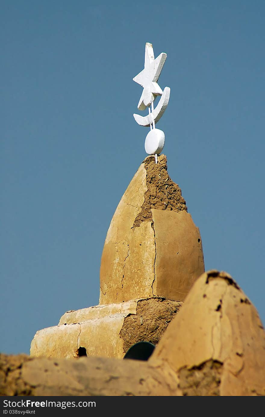
<svg viewBox="0 0 265 417">
<path fill-rule="evenodd" d="M 67 311 L 38 331 L 33 356 L 122 358 L 136 342 L 156 345 L 204 272 L 199 229 L 167 158 L 148 156 L 115 211 L 103 247 L 98 306 Z"/>
</svg>

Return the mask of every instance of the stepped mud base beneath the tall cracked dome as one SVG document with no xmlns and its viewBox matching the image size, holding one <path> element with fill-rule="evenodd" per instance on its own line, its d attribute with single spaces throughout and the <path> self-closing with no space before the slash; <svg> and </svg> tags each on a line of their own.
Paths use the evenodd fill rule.
<svg viewBox="0 0 265 417">
<path fill-rule="evenodd" d="M 154 297 L 68 311 L 58 326 L 36 332 L 30 356 L 77 359 L 82 347 L 88 357 L 122 359 L 135 342 L 157 344 L 181 305 Z"/>
</svg>

